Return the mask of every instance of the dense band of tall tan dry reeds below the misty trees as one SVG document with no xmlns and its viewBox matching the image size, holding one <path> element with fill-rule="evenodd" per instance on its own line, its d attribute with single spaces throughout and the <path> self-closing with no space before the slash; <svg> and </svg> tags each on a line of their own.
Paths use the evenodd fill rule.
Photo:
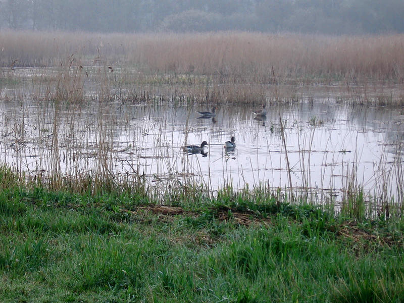
<svg viewBox="0 0 404 303">
<path fill-rule="evenodd" d="M 226 83 L 366 78 L 404 81 L 404 35 L 324 36 L 218 32 L 90 34 L 0 32 L 0 65 L 135 66 L 152 73 L 218 76 Z M 18 60 L 18 61 L 16 61 Z M 272 73 L 272 68 L 274 73 Z"/>
</svg>

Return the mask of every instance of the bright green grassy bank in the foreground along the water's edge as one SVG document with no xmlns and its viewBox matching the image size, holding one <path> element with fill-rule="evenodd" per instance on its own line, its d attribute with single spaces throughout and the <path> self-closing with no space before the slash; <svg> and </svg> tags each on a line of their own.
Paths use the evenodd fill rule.
<svg viewBox="0 0 404 303">
<path fill-rule="evenodd" d="M 274 193 L 77 193 L 2 170 L 2 302 L 399 302 L 404 223 Z"/>
</svg>

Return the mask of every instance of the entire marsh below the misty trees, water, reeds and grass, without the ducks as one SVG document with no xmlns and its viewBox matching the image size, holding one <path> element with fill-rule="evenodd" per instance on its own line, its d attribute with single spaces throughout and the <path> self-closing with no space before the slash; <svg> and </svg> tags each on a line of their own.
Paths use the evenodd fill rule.
<svg viewBox="0 0 404 303">
<path fill-rule="evenodd" d="M 402 41 L 1 31 L 0 300 L 403 301 Z"/>
</svg>

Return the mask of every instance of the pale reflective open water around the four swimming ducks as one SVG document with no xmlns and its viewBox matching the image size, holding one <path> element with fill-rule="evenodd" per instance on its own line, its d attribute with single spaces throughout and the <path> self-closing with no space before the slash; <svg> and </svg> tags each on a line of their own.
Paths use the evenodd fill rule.
<svg viewBox="0 0 404 303">
<path fill-rule="evenodd" d="M 199 119 L 196 111 L 210 111 L 206 106 L 31 101 L 0 107 L 2 161 L 30 175 L 112 173 L 144 175 L 150 185 L 284 188 L 290 171 L 292 186 L 318 199 L 338 199 L 349 184 L 374 197 L 400 191 L 404 116 L 396 110 L 314 99 L 268 103 L 266 118 L 257 120 L 251 114 L 257 108 L 247 106 L 220 106 L 214 119 Z M 226 150 L 231 136 L 236 148 Z M 181 148 L 204 140 L 204 155 Z"/>
</svg>

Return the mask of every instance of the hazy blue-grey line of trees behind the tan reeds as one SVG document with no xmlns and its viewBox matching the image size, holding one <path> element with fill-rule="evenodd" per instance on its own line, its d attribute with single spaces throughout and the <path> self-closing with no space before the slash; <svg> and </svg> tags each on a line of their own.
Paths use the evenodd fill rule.
<svg viewBox="0 0 404 303">
<path fill-rule="evenodd" d="M 0 0 L 0 29 L 404 32 L 403 0 Z"/>
</svg>

